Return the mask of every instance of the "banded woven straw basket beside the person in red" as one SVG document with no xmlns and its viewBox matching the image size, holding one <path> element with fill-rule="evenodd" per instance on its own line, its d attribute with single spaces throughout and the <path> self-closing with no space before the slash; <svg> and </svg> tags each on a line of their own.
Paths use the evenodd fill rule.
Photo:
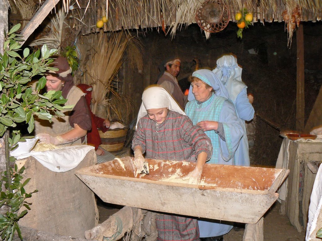
<svg viewBox="0 0 322 241">
<path fill-rule="evenodd" d="M 127 133 L 128 128 L 107 130 L 105 133 L 99 130 L 102 142 L 100 146 L 107 151 L 120 151 L 124 147 Z"/>
</svg>

